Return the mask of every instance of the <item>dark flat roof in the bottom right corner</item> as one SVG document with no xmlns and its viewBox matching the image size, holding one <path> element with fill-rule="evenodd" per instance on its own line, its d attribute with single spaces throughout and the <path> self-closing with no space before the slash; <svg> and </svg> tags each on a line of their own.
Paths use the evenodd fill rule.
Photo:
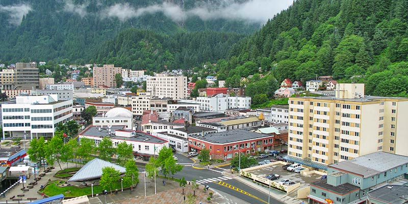
<svg viewBox="0 0 408 204">
<path fill-rule="evenodd" d="M 408 186 L 387 185 L 368 192 L 368 197 L 386 203 L 408 203 Z"/>
</svg>

